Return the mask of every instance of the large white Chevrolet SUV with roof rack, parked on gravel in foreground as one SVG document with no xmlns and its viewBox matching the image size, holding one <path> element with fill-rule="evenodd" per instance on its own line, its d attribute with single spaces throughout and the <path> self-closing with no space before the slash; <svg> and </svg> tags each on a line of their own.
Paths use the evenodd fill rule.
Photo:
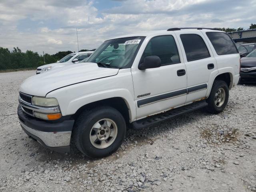
<svg viewBox="0 0 256 192">
<path fill-rule="evenodd" d="M 73 140 L 91 158 L 116 151 L 128 125 L 147 128 L 202 107 L 222 112 L 240 79 L 230 36 L 206 28 L 106 40 L 87 62 L 25 80 L 18 116 L 43 146 L 68 152 Z"/>
</svg>

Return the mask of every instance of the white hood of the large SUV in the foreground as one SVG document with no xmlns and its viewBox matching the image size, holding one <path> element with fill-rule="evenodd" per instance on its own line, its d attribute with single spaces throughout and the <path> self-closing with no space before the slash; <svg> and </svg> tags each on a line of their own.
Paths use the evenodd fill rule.
<svg viewBox="0 0 256 192">
<path fill-rule="evenodd" d="M 114 76 L 118 74 L 118 70 L 98 67 L 96 63 L 76 64 L 31 76 L 20 85 L 19 91 L 44 97 L 48 92 L 64 86 Z"/>
</svg>

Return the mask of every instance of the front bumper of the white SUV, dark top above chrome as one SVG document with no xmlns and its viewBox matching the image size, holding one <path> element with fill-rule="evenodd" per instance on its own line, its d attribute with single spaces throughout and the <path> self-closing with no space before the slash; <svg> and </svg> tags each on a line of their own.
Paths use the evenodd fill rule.
<svg viewBox="0 0 256 192">
<path fill-rule="evenodd" d="M 18 117 L 24 132 L 42 146 L 57 152 L 70 151 L 74 120 L 69 116 L 52 122 L 44 121 L 25 114 L 19 105 Z"/>
</svg>

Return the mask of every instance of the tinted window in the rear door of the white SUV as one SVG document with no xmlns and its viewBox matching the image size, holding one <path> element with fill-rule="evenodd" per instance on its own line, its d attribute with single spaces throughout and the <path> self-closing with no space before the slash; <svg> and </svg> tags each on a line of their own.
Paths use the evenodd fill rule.
<svg viewBox="0 0 256 192">
<path fill-rule="evenodd" d="M 206 44 L 197 34 L 180 35 L 188 61 L 194 61 L 210 57 Z"/>
</svg>

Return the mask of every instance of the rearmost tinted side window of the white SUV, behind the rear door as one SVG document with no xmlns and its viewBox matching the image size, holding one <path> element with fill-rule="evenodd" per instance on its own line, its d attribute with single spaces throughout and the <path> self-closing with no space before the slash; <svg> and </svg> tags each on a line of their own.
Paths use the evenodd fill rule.
<svg viewBox="0 0 256 192">
<path fill-rule="evenodd" d="M 222 32 L 206 32 L 206 35 L 210 39 L 210 42 L 218 55 L 238 53 L 228 34 Z"/>
</svg>

